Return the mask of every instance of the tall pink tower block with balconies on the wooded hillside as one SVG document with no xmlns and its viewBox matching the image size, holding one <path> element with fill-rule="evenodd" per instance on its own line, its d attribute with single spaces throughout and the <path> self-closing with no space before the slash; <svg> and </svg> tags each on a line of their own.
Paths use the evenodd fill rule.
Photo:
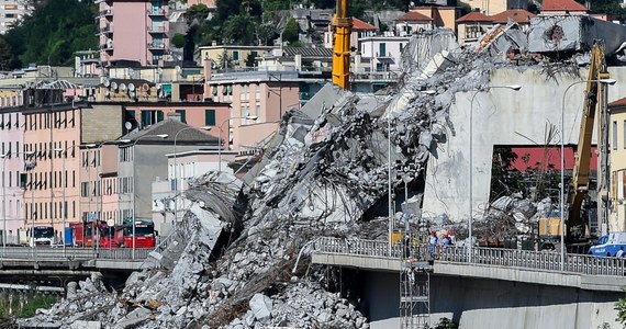
<svg viewBox="0 0 626 329">
<path fill-rule="evenodd" d="M 161 66 L 169 60 L 168 2 L 99 0 L 100 60 L 136 60 Z"/>
</svg>

